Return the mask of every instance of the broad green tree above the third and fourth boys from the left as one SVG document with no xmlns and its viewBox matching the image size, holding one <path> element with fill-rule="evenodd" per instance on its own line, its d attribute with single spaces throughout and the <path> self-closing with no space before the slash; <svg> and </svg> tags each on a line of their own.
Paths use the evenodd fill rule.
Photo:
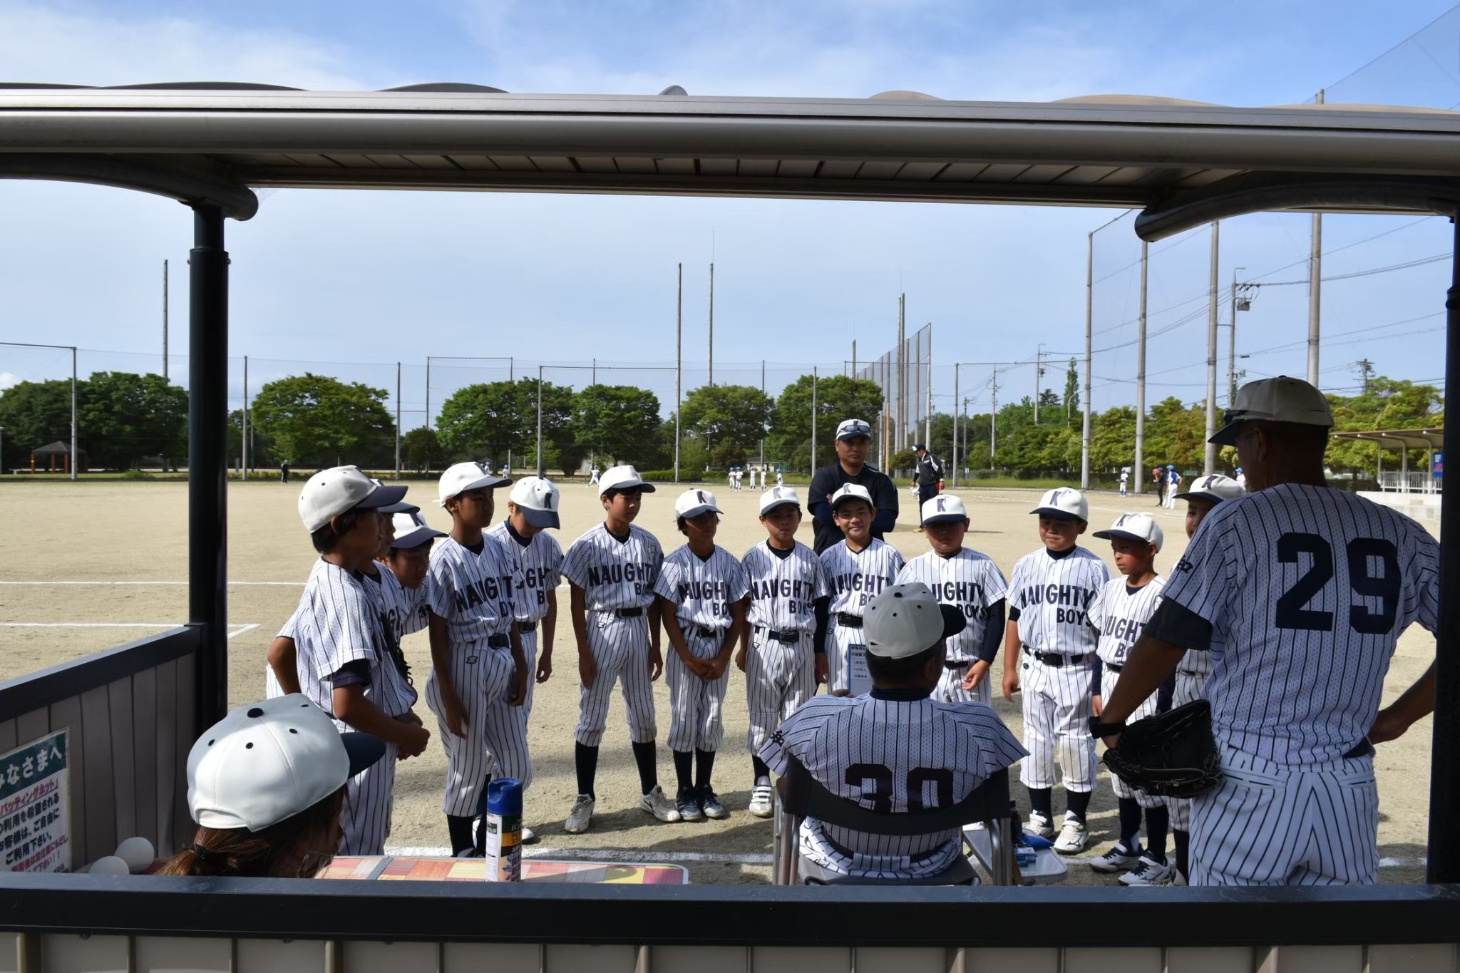
<svg viewBox="0 0 1460 973">
<path fill-rule="evenodd" d="M 571 442 L 572 389 L 543 382 L 543 446 Z M 483 382 L 458 388 L 441 406 L 441 445 L 457 458 L 507 461 L 508 451 L 526 457 L 537 448 L 537 379 Z"/>
</svg>

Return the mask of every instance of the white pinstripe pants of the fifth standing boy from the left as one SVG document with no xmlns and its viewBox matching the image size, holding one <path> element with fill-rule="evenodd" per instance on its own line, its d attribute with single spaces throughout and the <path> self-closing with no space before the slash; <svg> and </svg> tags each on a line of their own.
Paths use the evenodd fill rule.
<svg viewBox="0 0 1460 973">
<path fill-rule="evenodd" d="M 657 726 L 654 683 L 648 678 L 648 619 L 619 619 L 612 611 L 590 611 L 587 621 L 588 651 L 593 652 L 599 674 L 591 687 L 578 691 L 578 728 L 574 740 L 584 747 L 603 743 L 613 686 L 622 683 L 629 740 L 637 744 L 653 743 Z"/>
</svg>

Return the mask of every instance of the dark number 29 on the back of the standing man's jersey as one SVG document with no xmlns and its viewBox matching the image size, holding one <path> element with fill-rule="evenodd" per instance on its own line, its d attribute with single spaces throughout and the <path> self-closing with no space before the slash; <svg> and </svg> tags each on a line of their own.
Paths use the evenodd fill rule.
<svg viewBox="0 0 1460 973">
<path fill-rule="evenodd" d="M 1304 608 L 1330 581 L 1333 581 L 1333 546 L 1317 534 L 1283 534 L 1278 538 L 1278 560 L 1283 565 L 1299 563 L 1299 554 L 1308 554 L 1313 565 L 1278 600 L 1275 621 L 1279 629 L 1302 632 L 1333 632 L 1333 613 Z M 1394 629 L 1394 613 L 1399 608 L 1399 551 L 1394 544 L 1374 537 L 1356 537 L 1345 548 L 1349 562 L 1349 588 L 1361 598 L 1378 598 L 1378 611 L 1365 604 L 1349 605 L 1349 627 L 1361 635 L 1388 635 Z M 1369 570 L 1371 559 L 1378 559 L 1383 573 Z"/>
</svg>

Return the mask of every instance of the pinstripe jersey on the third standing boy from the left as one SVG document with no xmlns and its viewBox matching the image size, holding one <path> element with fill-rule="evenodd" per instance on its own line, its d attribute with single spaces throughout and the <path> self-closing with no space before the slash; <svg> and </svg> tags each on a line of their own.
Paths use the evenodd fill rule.
<svg viewBox="0 0 1460 973">
<path fill-rule="evenodd" d="M 512 627 L 517 578 L 512 556 L 495 537 L 483 534 L 480 551 L 442 537 L 431 548 L 426 585 L 431 611 L 447 621 L 447 639 L 464 645 L 507 635 Z"/>
</svg>

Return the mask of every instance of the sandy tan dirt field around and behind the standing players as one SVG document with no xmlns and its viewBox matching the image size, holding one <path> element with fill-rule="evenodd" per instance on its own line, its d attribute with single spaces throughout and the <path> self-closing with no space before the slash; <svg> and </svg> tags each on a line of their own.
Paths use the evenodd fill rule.
<svg viewBox="0 0 1460 973">
<path fill-rule="evenodd" d="M 764 537 L 755 515 L 756 495 L 714 487 L 726 518 L 720 541 L 740 554 Z M 15 678 L 39 668 L 112 648 L 187 617 L 187 496 L 182 483 L 3 483 L 19 522 L 26 527 L 25 551 L 12 546 L 0 565 L 0 678 Z M 921 534 L 912 532 L 912 503 L 902 493 L 902 519 L 889 537 L 904 554 L 920 554 Z M 1037 546 L 1028 515 L 1035 493 L 1022 490 L 964 492 L 972 530 L 968 543 L 999 563 L 1004 575 L 1018 557 Z M 450 518 L 435 505 L 435 484 L 412 486 L 412 499 L 437 527 Z M 673 524 L 672 484 L 645 497 L 638 524 L 660 537 L 666 551 L 679 535 Z M 229 512 L 229 700 L 232 705 L 263 696 L 264 649 L 298 602 L 314 551 L 296 515 L 298 486 L 272 481 L 232 483 Z M 499 495 L 505 515 L 505 495 Z M 1181 515 L 1158 511 L 1149 496 L 1121 500 L 1114 493 L 1091 495 L 1091 518 L 1102 527 L 1126 511 L 1156 513 L 1167 532 L 1158 567 L 1175 563 L 1186 548 Z M 564 490 L 562 531 L 566 547 L 602 519 L 594 493 L 583 484 Z M 1092 528 L 1094 530 L 1094 528 Z M 802 540 L 810 543 L 809 521 Z M 1108 544 L 1091 541 L 1110 557 Z M 564 600 L 566 605 L 566 600 Z M 425 635 L 406 639 L 406 654 L 425 683 L 431 655 Z M 1434 639 L 1413 627 L 1400 640 L 1390 670 L 1387 699 L 1424 672 L 1434 658 Z M 691 869 L 695 883 L 764 883 L 769 878 L 771 827 L 745 813 L 750 763 L 745 753 L 745 683 L 731 670 L 726 702 L 726 744 L 715 766 L 715 782 L 731 817 L 726 821 L 660 824 L 638 810 L 638 776 L 623 725 L 622 700 L 615 702 L 599 769 L 599 808 L 593 830 L 571 836 L 562 821 L 575 792 L 572 728 L 578 715 L 577 654 L 566 619 L 559 621 L 556 672 L 537 687 L 530 744 L 537 779 L 529 792 L 526 820 L 543 836 L 539 849 L 622 856 L 639 861 L 675 861 Z M 1000 668 L 991 674 L 996 680 Z M 669 693 L 661 684 L 660 740 L 669 731 Z M 1018 705 L 996 700 L 999 713 L 1019 732 Z M 435 734 L 435 719 L 422 702 L 418 712 Z M 1381 881 L 1424 881 L 1429 799 L 1431 724 L 1424 721 L 1405 738 L 1380 747 L 1377 759 L 1381 818 Z M 438 848 L 447 843 L 441 814 L 445 759 L 437 741 L 426 754 L 400 764 L 396 785 L 396 818 L 390 843 Z M 1092 843 L 1083 858 L 1098 855 L 1115 840 L 1115 804 L 1102 772 L 1091 805 Z M 660 779 L 673 791 L 673 766 L 660 748 Z M 1016 788 L 1022 792 L 1022 788 Z M 1056 798 L 1056 810 L 1063 798 Z M 1028 811 L 1028 808 L 1025 808 Z M 1076 861 L 1070 884 L 1110 884 Z"/>
</svg>

